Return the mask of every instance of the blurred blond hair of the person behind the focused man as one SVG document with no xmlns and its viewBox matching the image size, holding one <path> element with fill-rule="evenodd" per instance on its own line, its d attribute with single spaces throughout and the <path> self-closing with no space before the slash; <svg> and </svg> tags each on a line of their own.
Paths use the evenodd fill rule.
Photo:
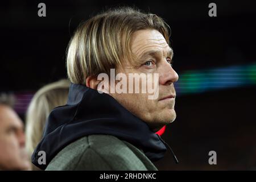
<svg viewBox="0 0 256 182">
<path fill-rule="evenodd" d="M 43 86 L 32 98 L 26 113 L 26 149 L 32 155 L 35 147 L 43 137 L 46 119 L 57 106 L 67 104 L 70 82 L 60 80 Z M 31 163 L 32 164 L 32 163 Z M 36 170 L 34 165 L 32 169 Z"/>
</svg>

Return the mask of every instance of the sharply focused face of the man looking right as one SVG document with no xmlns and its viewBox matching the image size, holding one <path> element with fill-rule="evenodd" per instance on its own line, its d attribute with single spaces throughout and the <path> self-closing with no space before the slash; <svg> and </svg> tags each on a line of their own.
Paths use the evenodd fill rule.
<svg viewBox="0 0 256 182">
<path fill-rule="evenodd" d="M 179 77 L 170 64 L 172 49 L 159 31 L 148 29 L 134 32 L 131 39 L 131 51 L 136 61 L 126 60 L 125 65 L 117 68 L 118 73 L 125 73 L 127 78 L 129 73 L 158 73 L 159 96 L 150 100 L 148 93 L 110 93 L 110 95 L 146 122 L 152 130 L 157 131 L 176 118 L 174 82 Z M 152 84 L 154 84 L 154 79 L 152 79 Z M 131 85 L 127 81 L 127 88 L 129 86 Z"/>
</svg>

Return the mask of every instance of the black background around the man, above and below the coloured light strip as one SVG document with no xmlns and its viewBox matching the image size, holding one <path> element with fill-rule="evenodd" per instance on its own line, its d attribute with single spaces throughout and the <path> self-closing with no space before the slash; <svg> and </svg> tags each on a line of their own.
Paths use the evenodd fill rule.
<svg viewBox="0 0 256 182">
<path fill-rule="evenodd" d="M 38 3 L 46 3 L 46 17 Z M 217 17 L 208 5 L 217 5 Z M 117 5 L 162 16 L 171 27 L 174 69 L 185 71 L 256 63 L 254 1 L 2 1 L 0 91 L 36 92 L 66 78 L 65 50 L 81 20 Z M 256 70 L 256 69 L 255 69 Z M 256 83 L 256 82 L 255 82 Z M 256 84 L 207 92 L 177 92 L 177 119 L 163 139 L 175 151 L 159 169 L 256 169 Z M 24 119 L 24 113 L 19 113 Z M 209 165 L 208 152 L 217 152 Z"/>
</svg>

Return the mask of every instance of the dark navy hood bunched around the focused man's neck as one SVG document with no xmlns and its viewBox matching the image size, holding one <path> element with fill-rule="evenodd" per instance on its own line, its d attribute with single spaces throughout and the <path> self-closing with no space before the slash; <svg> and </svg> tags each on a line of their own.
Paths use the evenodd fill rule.
<svg viewBox="0 0 256 182">
<path fill-rule="evenodd" d="M 32 154 L 32 163 L 46 169 L 61 150 L 81 138 L 96 135 L 114 137 L 130 144 L 130 147 L 142 151 L 151 162 L 163 158 L 167 150 L 159 135 L 112 96 L 71 84 L 67 104 L 56 107 L 49 114 L 43 138 Z M 97 139 L 93 139 L 97 143 Z M 118 148 L 115 150 L 118 151 Z M 39 151 L 45 152 L 46 163 L 39 162 Z"/>
</svg>

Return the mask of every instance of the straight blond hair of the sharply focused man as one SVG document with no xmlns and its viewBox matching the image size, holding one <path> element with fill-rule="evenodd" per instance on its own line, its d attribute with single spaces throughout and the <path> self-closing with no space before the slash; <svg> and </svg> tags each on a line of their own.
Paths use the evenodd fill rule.
<svg viewBox="0 0 256 182">
<path fill-rule="evenodd" d="M 109 10 L 82 23 L 67 49 L 69 80 L 85 85 L 86 77 L 109 74 L 123 60 L 134 60 L 131 36 L 144 29 L 158 30 L 169 43 L 170 27 L 162 18 L 130 7 Z"/>
</svg>

